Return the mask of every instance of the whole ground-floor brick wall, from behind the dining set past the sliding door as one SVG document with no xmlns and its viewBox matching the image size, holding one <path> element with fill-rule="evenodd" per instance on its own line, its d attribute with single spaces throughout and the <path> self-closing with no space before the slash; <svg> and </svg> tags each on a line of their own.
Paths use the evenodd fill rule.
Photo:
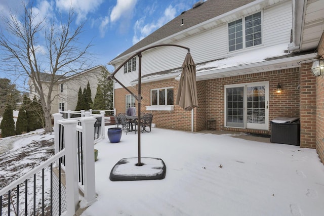
<svg viewBox="0 0 324 216">
<path fill-rule="evenodd" d="M 224 127 L 224 85 L 269 81 L 269 131 L 258 129 L 238 129 Z M 282 93 L 276 93 L 276 86 L 280 83 Z M 206 120 L 216 119 L 216 129 L 253 133 L 270 133 L 270 120 L 278 116 L 300 117 L 300 68 L 275 70 L 263 73 L 240 75 L 219 79 L 197 81 L 198 107 L 194 109 L 194 131 L 207 128 Z M 157 127 L 191 130 L 191 112 L 184 112 L 179 106 L 174 111 L 146 111 L 145 106 L 150 105 L 150 90 L 158 88 L 174 88 L 174 102 L 177 97 L 178 81 L 167 79 L 151 83 L 142 83 L 142 112 L 153 113 L 153 123 Z M 135 94 L 137 90 L 130 88 Z M 124 89 L 115 91 L 116 112 L 125 112 L 125 95 L 129 94 Z M 137 106 L 137 103 L 136 103 Z"/>
</svg>

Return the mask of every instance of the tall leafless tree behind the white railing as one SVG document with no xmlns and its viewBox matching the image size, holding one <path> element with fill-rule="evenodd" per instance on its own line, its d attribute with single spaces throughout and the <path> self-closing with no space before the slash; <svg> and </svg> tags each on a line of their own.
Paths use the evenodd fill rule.
<svg viewBox="0 0 324 216">
<path fill-rule="evenodd" d="M 20 19 L 13 13 L 4 19 L 7 29 L 0 33 L 0 47 L 6 53 L 5 64 L 18 76 L 27 76 L 42 104 L 45 132 L 51 132 L 51 103 L 58 97 L 53 92 L 58 81 L 89 67 L 91 43 L 78 43 L 84 23 L 72 25 L 72 9 L 59 24 L 55 19 L 41 19 L 33 13 L 31 2 L 24 5 Z"/>
</svg>

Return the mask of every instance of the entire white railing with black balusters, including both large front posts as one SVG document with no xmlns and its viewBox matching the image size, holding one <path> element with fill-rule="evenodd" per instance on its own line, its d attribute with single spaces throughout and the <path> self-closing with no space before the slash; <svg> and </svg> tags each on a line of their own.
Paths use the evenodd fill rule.
<svg viewBox="0 0 324 216">
<path fill-rule="evenodd" d="M 44 214 L 44 210 L 47 210 L 49 207 L 51 212 L 53 212 L 54 199 L 58 199 L 54 201 L 59 203 L 60 208 L 59 213 L 55 211 L 53 214 L 74 215 L 78 207 L 87 207 L 97 200 L 95 186 L 94 124 L 98 119 L 90 116 L 81 117 L 78 118 L 78 120 L 76 120 L 76 118 L 63 119 L 60 113 L 53 114 L 53 116 L 55 155 L 0 190 L 0 215 L 10 215 L 10 212 L 12 214 L 17 214 L 17 212 L 20 211 L 25 211 L 27 215 L 32 213 L 38 215 L 40 212 Z M 101 116 L 99 115 L 99 117 Z M 101 127 L 104 128 L 102 118 L 100 118 L 99 122 Z M 102 133 L 102 135 L 104 135 L 104 133 Z M 102 137 L 100 139 L 102 139 Z M 51 176 L 51 183 L 46 182 L 44 178 L 44 171 L 46 168 L 48 169 L 49 166 L 50 171 L 47 171 L 49 172 L 48 175 Z M 62 167 L 65 171 L 66 198 L 64 199 L 61 199 L 61 188 L 59 196 L 52 196 L 52 176 L 55 176 L 53 175 L 53 167 L 59 167 L 59 170 L 61 170 Z M 39 172 L 42 172 L 42 174 L 39 174 Z M 81 172 L 83 178 L 82 184 L 79 181 Z M 57 175 L 59 180 L 61 180 L 60 174 L 61 172 Z M 33 184 L 30 184 L 32 178 Z M 42 179 L 42 183 L 40 184 L 41 186 L 36 187 L 36 182 L 39 184 L 40 181 L 38 178 Z M 27 185 L 28 181 L 29 183 Z M 24 185 L 19 186 L 21 184 Z M 50 184 L 50 186 L 44 187 L 44 185 L 47 184 Z M 32 185 L 34 185 L 34 191 L 29 192 L 32 190 L 30 189 Z M 59 185 L 61 185 L 61 181 L 59 181 Z M 19 190 L 19 187 L 25 188 L 24 191 L 22 191 L 22 189 Z M 79 189 L 83 192 L 84 197 L 79 195 Z M 21 195 L 22 193 L 24 193 L 24 195 Z M 11 194 L 14 195 L 12 196 Z M 42 196 L 39 197 L 38 194 L 42 194 Z M 51 194 L 51 198 L 49 198 L 51 200 L 50 203 L 44 198 L 46 194 Z M 79 197 L 81 197 L 81 200 L 79 200 Z M 30 200 L 33 200 L 33 202 Z M 42 203 L 41 207 L 38 206 L 38 203 Z M 64 206 L 64 208 L 61 208 L 61 206 Z"/>
</svg>

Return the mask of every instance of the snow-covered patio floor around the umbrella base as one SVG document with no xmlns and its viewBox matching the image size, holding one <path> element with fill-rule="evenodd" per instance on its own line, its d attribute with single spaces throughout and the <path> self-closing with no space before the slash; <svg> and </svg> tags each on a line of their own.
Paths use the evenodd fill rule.
<svg viewBox="0 0 324 216">
<path fill-rule="evenodd" d="M 323 215 L 315 149 L 231 136 L 152 128 L 141 134 L 141 155 L 163 159 L 166 178 L 125 182 L 109 174 L 121 158 L 137 157 L 137 135 L 114 144 L 106 137 L 95 145 L 98 201 L 82 215 Z"/>
</svg>

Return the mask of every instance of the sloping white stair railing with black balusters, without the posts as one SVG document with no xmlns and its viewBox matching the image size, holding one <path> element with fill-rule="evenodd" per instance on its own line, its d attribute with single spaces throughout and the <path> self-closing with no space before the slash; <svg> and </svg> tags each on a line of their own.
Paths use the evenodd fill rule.
<svg viewBox="0 0 324 216">
<path fill-rule="evenodd" d="M 61 182 L 59 181 L 58 187 L 54 187 L 53 185 L 53 167 L 55 166 L 55 163 L 58 164 L 58 161 L 61 157 L 63 157 L 66 152 L 66 150 L 63 149 L 58 154 L 52 156 L 48 160 L 44 161 L 42 164 L 36 166 L 29 172 L 27 172 L 24 176 L 20 177 L 16 181 L 12 182 L 10 185 L 6 186 L 5 188 L 0 190 L 0 215 L 20 215 L 20 214 L 27 214 L 32 215 L 34 212 L 42 212 L 44 211 L 44 204 L 46 207 L 49 207 L 51 209 L 52 214 L 59 214 L 61 211 L 67 211 L 65 208 L 55 208 L 53 207 L 53 200 L 52 198 L 58 198 L 58 194 L 60 194 L 60 197 L 62 200 L 66 200 L 67 197 L 62 197 L 61 195 Z M 68 151 L 68 150 L 67 150 Z M 66 164 L 66 169 L 70 169 L 69 163 Z M 51 185 L 49 186 L 49 182 L 47 182 L 47 186 L 44 185 L 44 181 L 42 181 L 42 185 L 39 186 L 39 182 L 36 185 L 36 176 L 37 178 L 42 178 L 44 180 L 44 170 L 48 167 L 51 167 Z M 48 170 L 47 170 L 48 171 Z M 42 174 L 40 174 L 42 172 Z M 49 174 L 47 174 L 49 175 Z M 54 177 L 55 178 L 55 177 Z M 38 179 L 39 180 L 39 179 Z M 57 185 L 57 184 L 56 184 Z M 42 191 L 43 188 L 43 191 Z M 50 198 L 46 197 L 46 200 L 50 199 L 51 206 L 49 205 L 49 202 L 44 203 L 44 188 L 47 191 L 51 191 Z M 39 196 L 41 194 L 42 196 Z M 54 195 L 56 194 L 56 196 Z M 31 197 L 32 196 L 32 197 Z M 60 199 L 61 199 L 60 198 Z M 42 206 L 40 206 L 38 203 L 42 203 L 43 209 L 41 209 Z M 58 204 L 59 206 L 66 206 L 66 203 Z M 41 209 L 41 210 L 39 210 Z M 68 215 L 68 214 L 67 214 Z M 72 215 L 72 214 L 70 214 Z"/>
</svg>

